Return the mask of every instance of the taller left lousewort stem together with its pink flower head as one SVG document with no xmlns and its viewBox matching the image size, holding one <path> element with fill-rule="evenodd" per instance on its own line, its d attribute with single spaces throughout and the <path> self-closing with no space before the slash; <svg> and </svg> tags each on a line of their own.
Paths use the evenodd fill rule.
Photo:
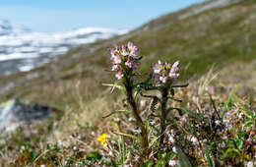
<svg viewBox="0 0 256 167">
<path fill-rule="evenodd" d="M 141 130 L 141 142 L 144 153 L 148 154 L 148 133 L 146 126 L 138 111 L 138 105 L 134 96 L 135 78 L 138 75 L 138 66 L 140 65 L 141 57 L 137 55 L 139 48 L 133 42 L 128 42 L 127 45 L 108 49 L 111 54 L 110 62 L 112 71 L 116 72 L 115 77 L 123 84 L 123 89 L 127 96 L 127 102 L 130 105 L 137 126 Z"/>
</svg>

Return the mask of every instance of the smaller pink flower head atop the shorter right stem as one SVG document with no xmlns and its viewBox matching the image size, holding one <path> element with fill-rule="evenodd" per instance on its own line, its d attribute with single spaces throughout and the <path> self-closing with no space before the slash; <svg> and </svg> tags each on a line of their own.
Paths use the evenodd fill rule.
<svg viewBox="0 0 256 167">
<path fill-rule="evenodd" d="M 179 61 L 176 61 L 172 66 L 170 63 L 158 63 L 152 65 L 154 71 L 153 79 L 155 84 L 167 83 L 168 81 L 175 81 L 179 77 L 178 72 Z"/>
</svg>

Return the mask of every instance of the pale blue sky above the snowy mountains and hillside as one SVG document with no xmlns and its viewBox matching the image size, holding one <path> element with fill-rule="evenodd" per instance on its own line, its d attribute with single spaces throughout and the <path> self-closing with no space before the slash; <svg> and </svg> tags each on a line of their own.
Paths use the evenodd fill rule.
<svg viewBox="0 0 256 167">
<path fill-rule="evenodd" d="M 0 19 L 53 32 L 74 28 L 137 28 L 204 0 L 0 0 Z"/>
</svg>

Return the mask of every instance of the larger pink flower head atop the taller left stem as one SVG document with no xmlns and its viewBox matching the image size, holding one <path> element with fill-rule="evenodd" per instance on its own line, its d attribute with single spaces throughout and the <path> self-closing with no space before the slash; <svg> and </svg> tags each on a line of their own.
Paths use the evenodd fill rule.
<svg viewBox="0 0 256 167">
<path fill-rule="evenodd" d="M 117 72 L 115 77 L 118 80 L 123 78 L 125 72 L 138 72 L 140 64 L 140 57 L 137 55 L 138 50 L 139 48 L 131 41 L 127 45 L 122 45 L 121 47 L 114 45 L 114 48 L 108 49 L 111 54 L 112 71 Z"/>
</svg>

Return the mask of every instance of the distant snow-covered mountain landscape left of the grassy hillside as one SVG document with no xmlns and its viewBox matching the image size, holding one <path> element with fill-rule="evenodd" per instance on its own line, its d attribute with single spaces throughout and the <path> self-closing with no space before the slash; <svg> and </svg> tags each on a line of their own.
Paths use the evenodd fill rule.
<svg viewBox="0 0 256 167">
<path fill-rule="evenodd" d="M 48 62 L 70 47 L 125 33 L 109 28 L 80 28 L 66 32 L 41 33 L 0 20 L 0 75 L 29 71 Z"/>
</svg>

